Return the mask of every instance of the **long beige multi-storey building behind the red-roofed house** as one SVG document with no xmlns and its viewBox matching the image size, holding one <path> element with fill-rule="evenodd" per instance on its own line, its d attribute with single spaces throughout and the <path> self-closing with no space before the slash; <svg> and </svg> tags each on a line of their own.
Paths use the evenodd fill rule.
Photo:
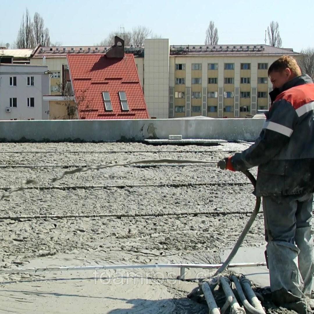
<svg viewBox="0 0 314 314">
<path fill-rule="evenodd" d="M 69 81 L 66 55 L 106 53 L 109 46 L 40 47 L 30 64 L 47 65 L 51 95 Z M 168 39 L 147 39 L 132 52 L 151 118 L 253 116 L 270 106 L 267 70 L 293 49 L 268 45 L 169 46 Z"/>
</svg>

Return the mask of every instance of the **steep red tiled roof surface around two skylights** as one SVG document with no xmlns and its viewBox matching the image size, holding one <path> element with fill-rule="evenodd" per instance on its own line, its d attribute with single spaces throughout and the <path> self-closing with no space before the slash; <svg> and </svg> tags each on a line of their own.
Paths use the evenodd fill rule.
<svg viewBox="0 0 314 314">
<path fill-rule="evenodd" d="M 148 119 L 134 57 L 107 58 L 104 54 L 68 54 L 79 119 Z M 112 111 L 106 111 L 102 92 L 109 91 Z M 127 95 L 129 111 L 122 111 L 118 92 Z"/>
</svg>

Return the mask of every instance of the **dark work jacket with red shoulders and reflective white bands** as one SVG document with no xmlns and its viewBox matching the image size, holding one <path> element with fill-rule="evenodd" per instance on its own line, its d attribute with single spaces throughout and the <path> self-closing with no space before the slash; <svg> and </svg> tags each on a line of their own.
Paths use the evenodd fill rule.
<svg viewBox="0 0 314 314">
<path fill-rule="evenodd" d="M 272 106 L 255 143 L 235 154 L 236 170 L 258 166 L 257 196 L 314 190 L 314 84 L 301 75 L 269 93 Z"/>
</svg>

